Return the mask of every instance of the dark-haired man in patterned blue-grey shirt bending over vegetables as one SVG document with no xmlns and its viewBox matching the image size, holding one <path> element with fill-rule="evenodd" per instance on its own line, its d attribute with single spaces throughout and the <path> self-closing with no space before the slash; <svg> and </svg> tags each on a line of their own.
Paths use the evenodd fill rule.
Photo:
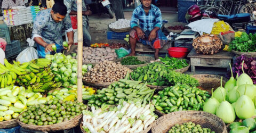
<svg viewBox="0 0 256 133">
<path fill-rule="evenodd" d="M 52 45 L 57 46 L 57 53 L 63 49 L 62 33 L 67 32 L 69 48 L 74 42 L 74 32 L 67 7 L 63 3 L 55 3 L 52 9 L 40 11 L 35 20 L 32 38 L 36 42 L 38 56 L 45 57 L 53 51 Z M 67 49 L 66 47 L 64 47 Z M 54 54 L 55 52 L 52 52 Z"/>
</svg>

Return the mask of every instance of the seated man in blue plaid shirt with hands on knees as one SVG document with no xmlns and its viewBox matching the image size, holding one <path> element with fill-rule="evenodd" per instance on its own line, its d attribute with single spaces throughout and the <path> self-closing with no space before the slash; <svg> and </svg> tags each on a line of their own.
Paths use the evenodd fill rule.
<svg viewBox="0 0 256 133">
<path fill-rule="evenodd" d="M 163 23 L 161 11 L 151 2 L 152 0 L 141 0 L 142 5 L 133 11 L 132 30 L 129 37 L 131 54 L 129 56 L 135 55 L 137 41 L 154 48 L 155 59 L 158 59 L 159 49 L 167 44 L 167 38 L 161 31 Z"/>
</svg>

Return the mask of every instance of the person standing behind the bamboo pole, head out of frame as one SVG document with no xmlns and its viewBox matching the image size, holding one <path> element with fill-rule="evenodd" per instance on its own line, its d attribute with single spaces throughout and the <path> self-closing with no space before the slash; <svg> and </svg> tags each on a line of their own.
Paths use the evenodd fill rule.
<svg viewBox="0 0 256 133">
<path fill-rule="evenodd" d="M 67 6 L 69 15 L 77 15 L 77 0 L 64 0 L 64 4 Z M 90 46 L 91 35 L 89 33 L 89 19 L 88 15 L 92 12 L 86 9 L 86 3 L 82 1 L 82 15 L 83 15 L 83 46 Z"/>
</svg>

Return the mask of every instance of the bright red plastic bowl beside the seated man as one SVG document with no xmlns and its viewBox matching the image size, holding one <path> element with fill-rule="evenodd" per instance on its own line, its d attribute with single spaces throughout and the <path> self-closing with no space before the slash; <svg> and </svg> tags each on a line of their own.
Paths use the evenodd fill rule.
<svg viewBox="0 0 256 133">
<path fill-rule="evenodd" d="M 188 55 L 188 48 L 186 47 L 170 47 L 167 49 L 169 56 L 175 58 L 183 58 Z"/>
</svg>

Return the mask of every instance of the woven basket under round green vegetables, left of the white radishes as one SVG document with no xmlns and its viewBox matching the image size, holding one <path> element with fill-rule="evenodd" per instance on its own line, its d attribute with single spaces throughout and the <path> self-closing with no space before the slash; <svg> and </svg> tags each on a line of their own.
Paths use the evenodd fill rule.
<svg viewBox="0 0 256 133">
<path fill-rule="evenodd" d="M 24 113 L 24 112 L 22 112 Z M 21 114 L 22 114 L 21 113 Z M 20 114 L 20 115 L 21 115 Z M 25 129 L 36 130 L 36 131 L 59 131 L 76 127 L 81 122 L 82 114 L 77 115 L 71 120 L 63 121 L 57 124 L 51 124 L 46 126 L 37 126 L 32 124 L 26 124 L 18 120 L 20 126 Z"/>
</svg>

